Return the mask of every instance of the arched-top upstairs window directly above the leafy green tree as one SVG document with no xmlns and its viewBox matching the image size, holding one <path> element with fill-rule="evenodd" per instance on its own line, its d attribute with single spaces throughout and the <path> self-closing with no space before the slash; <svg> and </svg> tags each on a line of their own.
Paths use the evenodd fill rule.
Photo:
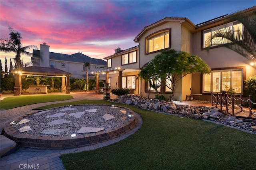
<svg viewBox="0 0 256 170">
<path fill-rule="evenodd" d="M 170 48 L 170 29 L 150 35 L 145 42 L 146 53 Z"/>
</svg>

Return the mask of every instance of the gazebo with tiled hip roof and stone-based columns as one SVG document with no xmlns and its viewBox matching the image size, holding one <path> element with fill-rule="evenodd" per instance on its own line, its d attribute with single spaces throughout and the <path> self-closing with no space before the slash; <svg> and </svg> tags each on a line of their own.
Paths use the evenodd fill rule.
<svg viewBox="0 0 256 170">
<path fill-rule="evenodd" d="M 14 95 L 20 95 L 22 91 L 22 84 L 21 84 L 21 76 L 28 75 L 28 76 L 43 76 L 43 77 L 62 77 L 62 85 L 61 91 L 65 92 L 66 94 L 70 93 L 70 75 L 66 71 L 50 68 L 50 67 L 38 67 L 38 66 L 31 66 L 31 67 L 23 67 L 22 69 L 14 69 L 11 71 L 15 74 L 15 84 L 14 84 Z"/>
</svg>

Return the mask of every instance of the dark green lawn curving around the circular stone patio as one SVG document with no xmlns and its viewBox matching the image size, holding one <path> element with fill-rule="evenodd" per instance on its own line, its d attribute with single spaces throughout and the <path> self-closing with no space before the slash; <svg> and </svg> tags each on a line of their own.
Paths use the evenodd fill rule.
<svg viewBox="0 0 256 170">
<path fill-rule="evenodd" d="M 74 104 L 113 103 L 104 100 L 62 103 Z M 50 107 L 57 106 L 60 104 Z M 256 167 L 254 134 L 200 120 L 126 107 L 141 115 L 142 128 L 130 137 L 103 148 L 63 154 L 61 159 L 66 170 L 248 170 Z"/>
</svg>

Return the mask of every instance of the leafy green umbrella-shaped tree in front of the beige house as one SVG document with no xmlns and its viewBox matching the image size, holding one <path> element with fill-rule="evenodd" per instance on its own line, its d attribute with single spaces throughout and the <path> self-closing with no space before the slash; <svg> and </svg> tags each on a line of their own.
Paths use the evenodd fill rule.
<svg viewBox="0 0 256 170">
<path fill-rule="evenodd" d="M 209 74 L 209 66 L 197 55 L 190 55 L 187 52 L 169 49 L 156 55 L 146 67 L 140 71 L 140 75 L 149 80 L 167 79 L 165 86 L 172 90 L 172 97 L 175 95 L 175 87 L 182 77 L 190 73 Z M 142 78 L 143 78 L 142 77 Z M 170 82 L 170 83 L 168 83 Z"/>
</svg>

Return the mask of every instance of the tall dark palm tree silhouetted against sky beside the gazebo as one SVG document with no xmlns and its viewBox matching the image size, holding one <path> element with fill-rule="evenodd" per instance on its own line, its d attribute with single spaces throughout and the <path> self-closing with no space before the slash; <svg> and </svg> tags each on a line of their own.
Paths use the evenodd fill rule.
<svg viewBox="0 0 256 170">
<path fill-rule="evenodd" d="M 30 52 L 27 50 L 29 49 L 37 49 L 36 45 L 28 45 L 25 47 L 22 47 L 20 33 L 17 31 L 14 31 L 11 27 L 9 27 L 10 30 L 10 38 L 3 38 L 1 39 L 1 51 L 4 51 L 6 53 L 14 52 L 16 53 L 16 56 L 14 60 L 16 61 L 18 69 L 22 68 L 21 60 L 20 60 L 20 54 L 23 55 L 31 55 Z"/>
</svg>

